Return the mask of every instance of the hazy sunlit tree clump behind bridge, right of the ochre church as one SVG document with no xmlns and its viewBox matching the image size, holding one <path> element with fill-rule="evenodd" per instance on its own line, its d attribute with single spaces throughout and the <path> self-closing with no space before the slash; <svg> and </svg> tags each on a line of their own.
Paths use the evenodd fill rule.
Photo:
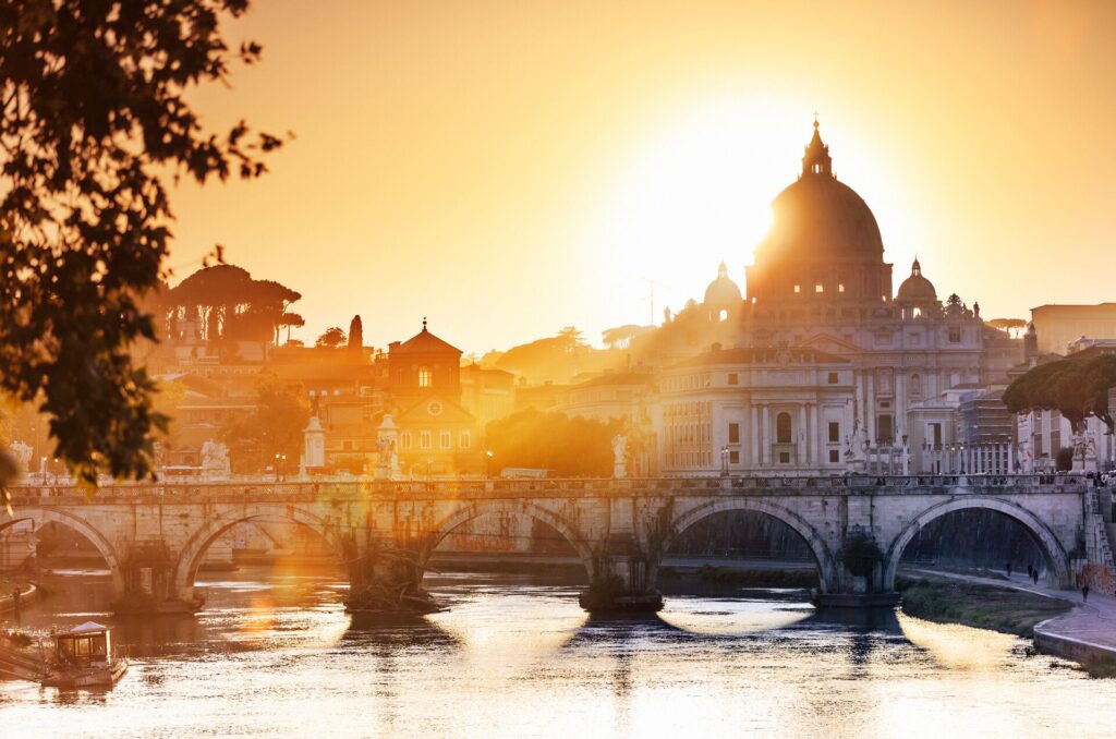
<svg viewBox="0 0 1116 739">
<path fill-rule="evenodd" d="M 557 477 L 612 477 L 612 439 L 622 433 L 620 421 L 602 423 L 535 409 L 492 421 L 485 443 L 493 454 L 493 471 L 506 467 L 552 470 Z"/>
</svg>

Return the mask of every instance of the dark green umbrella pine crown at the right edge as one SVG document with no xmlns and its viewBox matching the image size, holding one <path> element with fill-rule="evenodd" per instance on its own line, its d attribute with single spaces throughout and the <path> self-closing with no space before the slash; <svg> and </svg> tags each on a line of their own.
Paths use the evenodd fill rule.
<svg viewBox="0 0 1116 739">
<path fill-rule="evenodd" d="M 1085 429 L 1090 415 L 1108 432 L 1114 430 L 1108 392 L 1116 387 L 1116 356 L 1067 357 L 1031 367 L 1016 377 L 1003 393 L 1003 404 L 1012 413 L 1058 411 L 1074 428 Z"/>
</svg>

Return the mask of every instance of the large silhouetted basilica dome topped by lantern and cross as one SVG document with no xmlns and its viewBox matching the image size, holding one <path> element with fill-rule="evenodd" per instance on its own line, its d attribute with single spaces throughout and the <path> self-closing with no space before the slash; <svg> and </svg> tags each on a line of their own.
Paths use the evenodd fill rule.
<svg viewBox="0 0 1116 739">
<path fill-rule="evenodd" d="M 756 250 L 757 263 L 883 262 L 876 218 L 830 170 L 829 147 L 815 122 L 802 175 L 771 203 L 771 230 Z"/>
</svg>

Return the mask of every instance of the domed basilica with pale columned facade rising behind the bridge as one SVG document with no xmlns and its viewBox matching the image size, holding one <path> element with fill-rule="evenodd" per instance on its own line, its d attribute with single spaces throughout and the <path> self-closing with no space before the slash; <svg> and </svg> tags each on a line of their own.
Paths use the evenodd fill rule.
<svg viewBox="0 0 1116 739">
<path fill-rule="evenodd" d="M 772 211 L 743 292 L 722 263 L 703 303 L 633 345 L 656 368 L 652 467 L 839 473 L 865 453 L 947 444 L 941 399 L 995 382 L 1021 349 L 978 304 L 941 300 L 917 260 L 893 291 L 876 219 L 834 175 L 817 123 Z"/>
</svg>

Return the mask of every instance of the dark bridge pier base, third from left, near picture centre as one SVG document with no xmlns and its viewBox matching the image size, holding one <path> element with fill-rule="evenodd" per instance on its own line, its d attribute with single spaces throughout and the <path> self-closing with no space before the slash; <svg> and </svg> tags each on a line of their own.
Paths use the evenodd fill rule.
<svg viewBox="0 0 1116 739">
<path fill-rule="evenodd" d="M 613 535 L 594 555 L 589 587 L 578 598 L 594 613 L 655 612 L 663 595 L 653 582 L 654 567 L 631 535 Z"/>
</svg>

